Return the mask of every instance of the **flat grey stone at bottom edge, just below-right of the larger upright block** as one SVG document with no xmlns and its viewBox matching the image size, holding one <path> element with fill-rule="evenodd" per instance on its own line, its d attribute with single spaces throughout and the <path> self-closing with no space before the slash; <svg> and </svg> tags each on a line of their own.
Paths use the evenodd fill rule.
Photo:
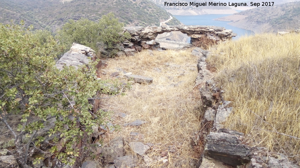
<svg viewBox="0 0 300 168">
<path fill-rule="evenodd" d="M 114 160 L 116 168 L 133 168 L 137 165 L 137 157 L 132 156 L 122 156 Z"/>
</svg>

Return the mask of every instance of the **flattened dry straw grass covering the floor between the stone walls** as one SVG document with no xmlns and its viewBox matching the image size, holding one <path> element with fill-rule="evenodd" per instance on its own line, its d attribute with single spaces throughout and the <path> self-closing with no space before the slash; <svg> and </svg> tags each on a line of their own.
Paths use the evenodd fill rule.
<svg viewBox="0 0 300 168">
<path fill-rule="evenodd" d="M 116 117 L 114 123 L 122 126 L 137 119 L 147 122 L 138 127 L 122 127 L 121 132 L 110 133 L 108 140 L 122 135 L 129 142 L 134 141 L 130 139 L 130 132 L 144 134 L 141 142 L 158 145 L 157 149 L 148 151 L 153 161 L 148 167 L 193 167 L 199 158 L 199 151 L 192 149 L 190 144 L 191 136 L 201 129 L 199 120 L 202 117 L 199 93 L 193 90 L 197 58 L 190 52 L 142 51 L 134 56 L 110 59 L 105 68 L 108 75 L 104 75 L 104 79 L 109 78 L 116 67 L 154 79 L 149 85 L 133 83 L 125 96 L 101 101 L 103 109 L 127 114 L 125 118 Z M 172 145 L 177 151 L 168 153 Z M 128 146 L 126 152 L 132 154 Z M 162 157 L 168 159 L 169 164 L 163 164 Z"/>
</svg>

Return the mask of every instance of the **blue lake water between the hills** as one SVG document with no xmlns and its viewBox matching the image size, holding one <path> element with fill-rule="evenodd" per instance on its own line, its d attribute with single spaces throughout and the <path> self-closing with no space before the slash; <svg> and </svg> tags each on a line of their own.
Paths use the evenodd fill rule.
<svg viewBox="0 0 300 168">
<path fill-rule="evenodd" d="M 253 31 L 237 28 L 231 25 L 228 25 L 227 21 L 217 21 L 213 20 L 216 18 L 229 16 L 230 14 L 219 15 L 219 14 L 210 14 L 210 15 L 192 15 L 192 16 L 182 16 L 182 15 L 173 15 L 184 25 L 209 25 L 209 26 L 220 26 L 225 27 L 226 29 L 231 29 L 233 33 L 236 33 L 237 36 L 233 39 L 238 39 L 241 36 L 247 36 L 253 34 Z"/>
</svg>

